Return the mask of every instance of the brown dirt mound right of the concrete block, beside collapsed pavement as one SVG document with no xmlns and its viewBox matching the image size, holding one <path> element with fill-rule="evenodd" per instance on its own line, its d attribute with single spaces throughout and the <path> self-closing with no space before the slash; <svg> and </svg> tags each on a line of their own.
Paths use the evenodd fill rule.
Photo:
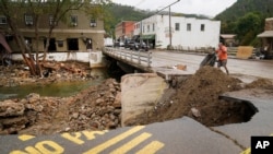
<svg viewBox="0 0 273 154">
<path fill-rule="evenodd" d="M 272 88 L 273 84 L 265 79 L 244 84 L 216 68 L 204 67 L 182 80 L 177 87 L 167 90 L 154 110 L 140 115 L 128 125 L 147 125 L 182 116 L 189 116 L 207 127 L 246 122 L 256 112 L 248 104 L 221 100 L 218 96 L 225 92 L 253 87 Z"/>
</svg>

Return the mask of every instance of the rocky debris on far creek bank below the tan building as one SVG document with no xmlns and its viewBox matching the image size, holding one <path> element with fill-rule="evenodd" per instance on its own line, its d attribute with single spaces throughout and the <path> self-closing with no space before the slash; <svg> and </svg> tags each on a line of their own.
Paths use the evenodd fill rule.
<svg viewBox="0 0 273 154">
<path fill-rule="evenodd" d="M 48 84 L 62 81 L 81 81 L 94 79 L 88 63 L 80 62 L 45 62 L 41 63 L 44 76 L 32 76 L 23 63 L 0 66 L 0 86 L 17 86 L 27 83 Z M 46 74 L 46 75 L 45 75 Z"/>
</svg>

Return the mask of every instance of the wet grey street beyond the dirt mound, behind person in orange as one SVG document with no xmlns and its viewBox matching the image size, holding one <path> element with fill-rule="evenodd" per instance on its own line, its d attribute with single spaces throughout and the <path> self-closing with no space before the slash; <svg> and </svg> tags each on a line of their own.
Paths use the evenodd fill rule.
<svg viewBox="0 0 273 154">
<path fill-rule="evenodd" d="M 194 73 L 199 69 L 201 61 L 206 56 L 204 54 L 197 55 L 170 51 L 153 51 L 152 55 L 152 67 L 155 68 L 155 70 L 161 70 L 161 68 L 166 67 L 171 68 L 177 64 L 186 64 L 187 71 L 185 73 L 189 74 Z M 244 60 L 229 57 L 227 68 L 230 74 L 273 79 L 273 60 Z"/>
</svg>

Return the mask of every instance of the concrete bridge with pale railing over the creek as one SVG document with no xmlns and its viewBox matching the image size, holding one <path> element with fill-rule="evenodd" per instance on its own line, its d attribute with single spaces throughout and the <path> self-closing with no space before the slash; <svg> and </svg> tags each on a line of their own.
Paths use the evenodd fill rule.
<svg viewBox="0 0 273 154">
<path fill-rule="evenodd" d="M 183 63 L 168 63 L 157 58 L 158 51 L 135 51 L 123 48 L 109 48 L 103 50 L 106 57 L 110 57 L 119 62 L 119 67 L 130 73 L 133 72 L 156 73 L 165 80 L 171 80 L 177 75 L 189 75 L 194 73 L 193 69 L 188 69 Z M 165 63 L 166 62 L 166 63 Z M 159 64 L 161 63 L 161 64 Z M 159 66 L 158 66 L 159 64 Z"/>
</svg>

